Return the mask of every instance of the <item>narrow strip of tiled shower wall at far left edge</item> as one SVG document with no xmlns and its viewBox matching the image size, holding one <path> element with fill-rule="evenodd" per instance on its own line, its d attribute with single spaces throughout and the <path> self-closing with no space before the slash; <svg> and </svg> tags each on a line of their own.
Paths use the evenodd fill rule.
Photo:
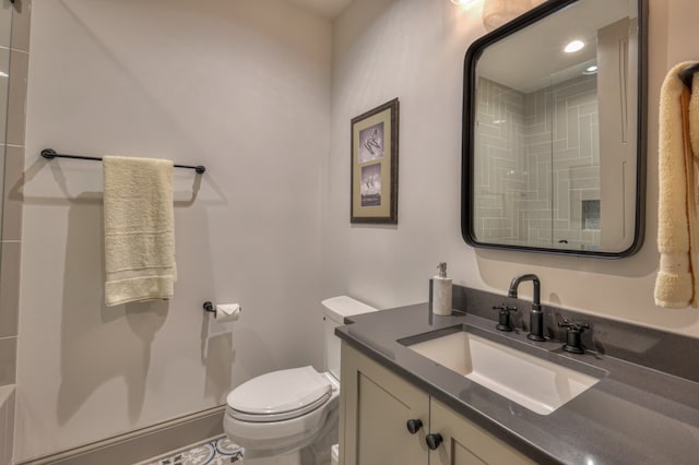
<svg viewBox="0 0 699 465">
<path fill-rule="evenodd" d="M 0 63 L 7 85 L 0 86 L 7 104 L 0 131 L 4 148 L 2 204 L 2 250 L 0 264 L 0 465 L 12 461 L 14 431 L 14 383 L 19 336 L 20 251 L 22 239 L 22 183 L 24 174 L 24 133 L 26 78 L 29 51 L 29 0 L 2 0 L 0 24 L 11 27 L 10 40 L 0 41 Z M 11 36 L 11 37 L 10 37 Z M 9 72 L 8 72 L 9 71 Z"/>
</svg>

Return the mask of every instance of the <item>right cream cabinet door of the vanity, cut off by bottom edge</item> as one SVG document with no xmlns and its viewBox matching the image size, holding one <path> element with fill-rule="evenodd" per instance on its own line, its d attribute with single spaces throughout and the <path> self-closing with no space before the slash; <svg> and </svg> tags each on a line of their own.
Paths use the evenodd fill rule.
<svg viewBox="0 0 699 465">
<path fill-rule="evenodd" d="M 430 432 L 442 438 L 442 443 L 429 453 L 430 465 L 535 464 L 438 401 L 433 398 L 430 407 Z"/>
</svg>

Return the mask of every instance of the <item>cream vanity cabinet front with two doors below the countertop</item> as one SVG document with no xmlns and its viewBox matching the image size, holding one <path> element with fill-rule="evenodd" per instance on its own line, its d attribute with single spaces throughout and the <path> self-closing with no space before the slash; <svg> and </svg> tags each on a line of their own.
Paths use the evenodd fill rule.
<svg viewBox="0 0 699 465">
<path fill-rule="evenodd" d="M 341 465 L 535 463 L 345 343 L 341 369 Z"/>
</svg>

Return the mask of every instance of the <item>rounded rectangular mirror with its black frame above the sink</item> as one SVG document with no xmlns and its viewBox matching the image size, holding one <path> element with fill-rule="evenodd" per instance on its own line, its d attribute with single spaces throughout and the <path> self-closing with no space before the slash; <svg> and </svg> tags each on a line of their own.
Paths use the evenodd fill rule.
<svg viewBox="0 0 699 465">
<path fill-rule="evenodd" d="M 601 258 L 640 248 L 645 0 L 549 0 L 464 63 L 462 233 Z"/>
</svg>

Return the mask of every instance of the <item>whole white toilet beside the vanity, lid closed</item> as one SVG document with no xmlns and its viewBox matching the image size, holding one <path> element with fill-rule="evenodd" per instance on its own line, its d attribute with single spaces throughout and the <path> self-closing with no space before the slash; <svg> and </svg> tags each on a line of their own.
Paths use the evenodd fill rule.
<svg viewBox="0 0 699 465">
<path fill-rule="evenodd" d="M 226 398 L 223 428 L 245 448 L 245 463 L 253 465 L 310 463 L 305 450 L 319 450 L 313 463 L 329 464 L 337 437 L 340 339 L 334 335 L 345 317 L 376 311 L 346 296 L 322 301 L 325 326 L 325 366 L 279 370 L 253 378 Z M 318 445 L 318 448 L 316 446 Z M 312 452 L 311 452 L 312 453 Z"/>
</svg>

